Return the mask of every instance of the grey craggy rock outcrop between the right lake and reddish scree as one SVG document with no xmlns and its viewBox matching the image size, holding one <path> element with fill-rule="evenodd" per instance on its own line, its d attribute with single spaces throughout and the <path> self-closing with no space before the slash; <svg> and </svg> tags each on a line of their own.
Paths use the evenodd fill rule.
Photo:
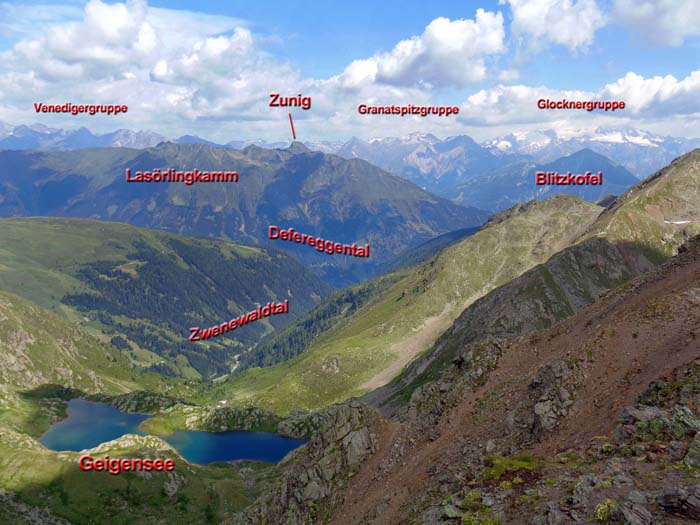
<svg viewBox="0 0 700 525">
<path fill-rule="evenodd" d="M 314 415 L 318 433 L 280 464 L 280 480 L 239 517 L 238 523 L 316 523 L 323 504 L 376 450 L 378 415 L 358 401 Z"/>
</svg>

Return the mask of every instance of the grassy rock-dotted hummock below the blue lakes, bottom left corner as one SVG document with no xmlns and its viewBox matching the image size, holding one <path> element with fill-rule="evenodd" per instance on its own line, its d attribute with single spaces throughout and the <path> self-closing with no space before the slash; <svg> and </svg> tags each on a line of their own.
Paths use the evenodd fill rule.
<svg viewBox="0 0 700 525">
<path fill-rule="evenodd" d="M 79 524 L 220 523 L 250 502 L 234 467 L 190 465 L 157 438 L 123 436 L 89 453 L 172 458 L 176 467 L 173 473 L 151 476 L 83 472 L 78 468 L 80 453 L 52 452 L 0 427 L 0 486 L 30 508 L 48 508 Z"/>
</svg>

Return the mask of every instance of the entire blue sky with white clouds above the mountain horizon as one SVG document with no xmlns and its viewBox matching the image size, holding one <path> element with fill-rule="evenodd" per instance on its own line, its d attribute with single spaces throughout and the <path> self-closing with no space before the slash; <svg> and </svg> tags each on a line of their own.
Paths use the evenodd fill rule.
<svg viewBox="0 0 700 525">
<path fill-rule="evenodd" d="M 217 142 L 632 126 L 698 137 L 700 1 L 0 2 L 0 122 Z M 616 100 L 615 112 L 538 99 Z M 35 103 L 125 104 L 126 114 Z M 361 115 L 359 104 L 457 116 Z"/>
</svg>

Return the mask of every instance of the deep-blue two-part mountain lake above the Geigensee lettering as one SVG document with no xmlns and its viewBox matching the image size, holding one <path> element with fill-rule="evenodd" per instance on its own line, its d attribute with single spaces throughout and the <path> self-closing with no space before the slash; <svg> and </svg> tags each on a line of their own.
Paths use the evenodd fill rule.
<svg viewBox="0 0 700 525">
<path fill-rule="evenodd" d="M 146 435 L 139 424 L 151 416 L 127 414 L 106 403 L 85 399 L 68 402 L 68 417 L 55 423 L 39 438 L 51 450 L 80 451 L 93 448 L 124 434 Z M 163 440 L 190 463 L 251 459 L 276 463 L 306 440 L 269 432 L 199 432 L 178 430 Z"/>
</svg>

